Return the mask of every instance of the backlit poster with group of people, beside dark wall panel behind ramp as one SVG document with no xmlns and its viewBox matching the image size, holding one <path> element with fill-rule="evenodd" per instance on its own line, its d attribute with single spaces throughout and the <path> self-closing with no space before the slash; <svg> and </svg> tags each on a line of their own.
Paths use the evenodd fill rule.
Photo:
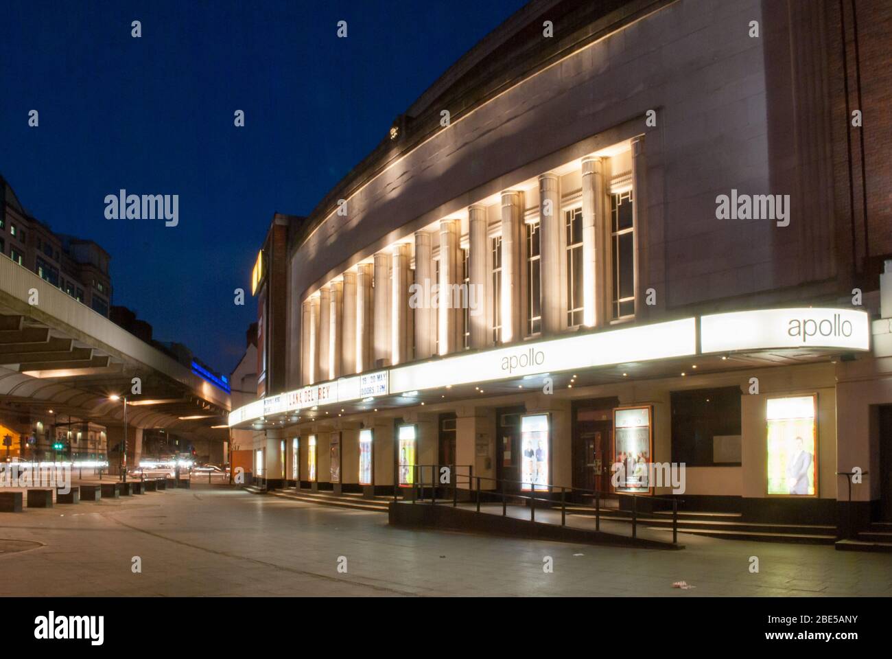
<svg viewBox="0 0 892 659">
<path fill-rule="evenodd" d="M 651 427 L 653 409 L 614 410 L 614 489 L 616 492 L 650 492 Z"/>
</svg>

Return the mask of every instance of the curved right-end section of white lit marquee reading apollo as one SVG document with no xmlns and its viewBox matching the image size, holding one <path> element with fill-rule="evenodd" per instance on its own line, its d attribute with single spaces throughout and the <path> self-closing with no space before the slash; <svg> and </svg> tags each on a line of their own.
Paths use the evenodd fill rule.
<svg viewBox="0 0 892 659">
<path fill-rule="evenodd" d="M 868 350 L 867 313 L 852 309 L 765 309 L 700 318 L 703 353 L 797 347 Z"/>
</svg>

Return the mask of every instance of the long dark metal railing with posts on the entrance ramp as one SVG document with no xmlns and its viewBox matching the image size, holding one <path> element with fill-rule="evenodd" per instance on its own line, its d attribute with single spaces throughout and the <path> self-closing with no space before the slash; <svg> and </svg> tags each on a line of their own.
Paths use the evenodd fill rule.
<svg viewBox="0 0 892 659">
<path fill-rule="evenodd" d="M 401 483 L 400 481 L 400 468 L 409 467 L 412 469 L 412 481 L 411 483 Z M 437 478 L 438 474 L 442 470 L 442 468 L 448 468 L 450 471 L 449 481 L 448 482 L 440 482 Z M 459 468 L 467 468 L 467 473 L 460 473 Z M 475 503 L 475 511 L 480 513 L 480 504 L 482 501 L 482 494 L 485 496 L 499 496 L 501 505 L 502 505 L 502 516 L 508 516 L 508 499 L 522 499 L 529 503 L 530 507 L 530 521 L 536 521 L 536 502 L 547 502 L 549 508 L 554 507 L 558 502 L 555 499 L 555 495 L 560 493 L 560 518 L 561 518 L 561 526 L 566 526 L 566 496 L 567 493 L 571 495 L 578 494 L 582 496 L 593 496 L 594 497 L 594 505 L 591 506 L 595 513 L 595 530 L 601 529 L 601 500 L 607 499 L 611 497 L 619 497 L 619 496 L 630 496 L 632 497 L 632 538 L 638 537 L 638 497 L 644 496 L 644 498 L 648 501 L 663 501 L 672 504 L 672 542 L 673 545 L 678 544 L 678 504 L 679 499 L 671 496 L 652 496 L 652 495 L 640 495 L 635 494 L 633 492 L 630 493 L 617 493 L 617 492 L 603 492 L 597 489 L 585 489 L 585 488 L 572 488 L 566 487 L 563 485 L 543 485 L 543 484 L 533 484 L 528 480 L 508 480 L 508 479 L 493 479 L 488 476 L 475 476 L 474 475 L 474 467 L 470 464 L 397 464 L 393 471 L 393 500 L 396 501 L 399 490 L 401 488 L 408 489 L 412 491 L 412 503 L 415 504 L 416 501 L 425 500 L 425 488 L 427 484 L 424 480 L 425 470 L 429 469 L 431 472 L 431 505 L 435 505 L 437 503 L 437 488 L 445 488 L 451 489 L 452 496 L 450 497 L 452 500 L 452 505 L 458 505 L 458 480 L 464 479 L 467 483 L 467 493 L 470 500 Z M 493 489 L 481 489 L 481 481 L 491 481 L 495 483 L 495 488 Z M 519 486 L 511 488 L 510 491 L 506 488 L 508 486 Z M 476 486 L 476 487 L 474 487 Z M 528 491 L 524 488 L 528 488 Z M 537 493 L 541 493 L 542 495 L 547 494 L 548 497 L 545 496 L 537 496 Z M 449 498 L 441 497 L 441 501 L 448 501 Z M 683 502 L 682 502 L 683 503 Z M 576 505 L 576 504 L 574 504 Z M 585 504 L 579 504 L 582 507 L 588 507 Z"/>
</svg>

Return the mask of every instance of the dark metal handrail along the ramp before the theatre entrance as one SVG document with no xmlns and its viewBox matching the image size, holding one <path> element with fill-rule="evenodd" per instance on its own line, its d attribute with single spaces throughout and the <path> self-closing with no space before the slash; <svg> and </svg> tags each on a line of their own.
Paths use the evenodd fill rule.
<svg viewBox="0 0 892 659">
<path fill-rule="evenodd" d="M 561 526 L 566 526 L 566 493 L 567 493 L 567 491 L 569 491 L 571 493 L 577 492 L 577 493 L 582 493 L 582 494 L 591 494 L 591 495 L 595 496 L 595 504 L 593 507 L 594 507 L 594 511 L 595 511 L 595 530 L 597 530 L 597 531 L 599 531 L 600 527 L 601 527 L 601 520 L 600 520 L 600 517 L 601 517 L 601 506 L 600 506 L 601 496 L 602 495 L 606 495 L 608 497 L 609 496 L 631 496 L 632 497 L 632 511 L 631 511 L 632 512 L 632 538 L 638 537 L 638 498 L 637 497 L 645 496 L 645 495 L 641 495 L 641 494 L 638 494 L 635 492 L 628 492 L 628 493 L 626 493 L 626 492 L 608 492 L 608 491 L 604 491 L 604 490 L 588 489 L 588 488 L 574 488 L 574 487 L 567 487 L 567 486 L 563 486 L 563 485 L 531 483 L 529 480 L 495 479 L 495 478 L 491 478 L 490 476 L 474 476 L 473 475 L 474 467 L 473 467 L 473 465 L 469 465 L 469 464 L 468 465 L 463 465 L 463 464 L 460 464 L 460 465 L 455 465 L 455 464 L 414 464 L 414 465 L 400 464 L 400 465 L 397 465 L 397 467 L 401 467 L 401 466 L 402 467 L 410 466 L 413 468 L 412 475 L 413 475 L 414 482 L 409 483 L 409 484 L 403 484 L 403 487 L 408 485 L 411 488 L 416 488 L 416 489 L 420 488 L 420 490 L 421 490 L 420 498 L 421 499 L 425 498 L 425 496 L 424 496 L 425 482 L 424 482 L 424 478 L 423 478 L 425 468 L 429 467 L 432 470 L 431 471 L 431 474 L 432 474 L 431 475 L 431 492 L 432 492 L 431 505 L 436 504 L 436 488 L 438 487 L 438 483 L 436 480 L 437 471 L 441 467 L 450 467 L 450 470 L 452 470 L 452 471 L 450 471 L 450 483 L 449 484 L 440 484 L 440 485 L 442 485 L 443 487 L 447 487 L 447 488 L 451 487 L 452 488 L 452 505 L 453 505 L 453 507 L 458 505 L 458 480 L 459 480 L 459 477 L 464 475 L 465 478 L 467 478 L 468 492 L 474 494 L 475 508 L 476 508 L 477 513 L 480 513 L 480 502 L 481 502 L 481 498 L 482 498 L 481 497 L 481 487 L 480 487 L 481 480 L 488 480 L 488 481 L 492 481 L 492 482 L 496 483 L 495 489 L 487 490 L 487 491 L 490 491 L 490 492 L 500 496 L 501 503 L 502 503 L 502 516 L 503 517 L 508 515 L 508 496 L 513 496 L 515 498 L 528 500 L 530 502 L 530 521 L 535 521 L 535 519 L 536 519 L 536 501 L 541 500 L 541 501 L 547 501 L 547 502 L 549 502 L 549 504 L 554 504 L 556 500 L 553 498 L 553 495 L 555 495 L 557 493 L 557 490 L 559 489 L 560 490 L 560 507 L 561 507 Z M 460 472 L 458 472 L 458 467 L 467 467 L 468 468 L 467 474 L 461 474 Z M 396 471 L 396 469 L 394 469 L 394 480 L 393 480 L 393 482 L 394 482 L 394 487 L 393 487 L 394 501 L 397 499 L 397 488 L 400 487 L 400 484 L 398 484 L 396 475 L 397 475 L 397 471 Z M 524 486 L 529 486 L 530 490 L 528 493 L 520 494 L 520 493 L 512 492 L 512 493 L 510 493 L 510 495 L 508 495 L 508 493 L 505 490 L 506 483 L 514 483 L 514 484 L 520 485 L 521 488 L 523 488 Z M 476 488 L 474 488 L 475 484 L 476 484 Z M 501 487 L 499 487 L 499 486 L 501 486 Z M 522 491 L 523 491 L 523 489 L 522 489 Z M 547 498 L 536 496 L 537 492 L 548 493 L 549 496 Z M 672 503 L 673 545 L 677 545 L 678 544 L 678 504 L 679 504 L 679 499 L 677 497 L 673 497 L 673 496 L 653 496 L 653 495 L 646 495 L 646 496 L 648 497 L 648 501 L 665 501 L 665 502 Z M 413 504 L 416 502 L 417 498 L 419 498 L 419 497 L 413 496 L 413 498 L 412 498 Z M 681 503 L 684 503 L 684 502 L 682 501 Z"/>
</svg>

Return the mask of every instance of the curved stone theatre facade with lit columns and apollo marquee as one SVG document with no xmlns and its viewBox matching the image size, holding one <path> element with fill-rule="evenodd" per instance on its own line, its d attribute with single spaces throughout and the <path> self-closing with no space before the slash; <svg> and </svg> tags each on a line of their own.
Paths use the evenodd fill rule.
<svg viewBox="0 0 892 659">
<path fill-rule="evenodd" d="M 888 11 L 585 5 L 526 5 L 275 217 L 254 477 L 892 521 Z"/>
</svg>

